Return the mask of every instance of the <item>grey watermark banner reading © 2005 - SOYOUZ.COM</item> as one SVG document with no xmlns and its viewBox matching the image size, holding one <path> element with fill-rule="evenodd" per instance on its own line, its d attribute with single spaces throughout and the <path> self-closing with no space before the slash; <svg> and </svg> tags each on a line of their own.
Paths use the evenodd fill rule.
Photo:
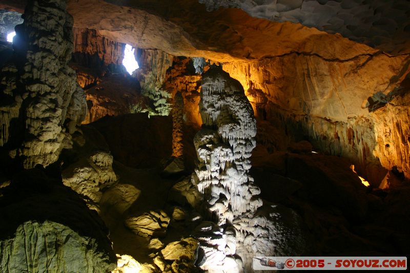
<svg viewBox="0 0 410 273">
<path fill-rule="evenodd" d="M 254 270 L 406 270 L 407 257 L 254 257 Z"/>
</svg>

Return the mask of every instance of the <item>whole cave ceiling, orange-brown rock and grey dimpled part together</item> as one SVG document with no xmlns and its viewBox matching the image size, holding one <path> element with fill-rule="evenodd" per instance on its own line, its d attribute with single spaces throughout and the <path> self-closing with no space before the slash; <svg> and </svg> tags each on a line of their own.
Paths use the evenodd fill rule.
<svg viewBox="0 0 410 273">
<path fill-rule="evenodd" d="M 68 2 L 74 27 L 139 48 L 220 62 L 295 52 L 346 60 L 379 50 L 410 51 L 408 1 Z M 24 6 L 25 1 L 0 4 L 19 12 Z"/>
</svg>

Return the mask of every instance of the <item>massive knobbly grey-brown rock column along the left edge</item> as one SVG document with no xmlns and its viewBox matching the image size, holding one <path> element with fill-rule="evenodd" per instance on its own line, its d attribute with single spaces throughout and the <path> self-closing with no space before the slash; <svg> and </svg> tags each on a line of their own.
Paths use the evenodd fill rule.
<svg viewBox="0 0 410 273">
<path fill-rule="evenodd" d="M 87 106 L 75 72 L 67 65 L 73 18 L 66 2 L 32 1 L 24 16 L 16 29 L 14 56 L 0 76 L 0 145 L 16 149 L 10 155 L 30 168 L 57 160 Z"/>
</svg>

